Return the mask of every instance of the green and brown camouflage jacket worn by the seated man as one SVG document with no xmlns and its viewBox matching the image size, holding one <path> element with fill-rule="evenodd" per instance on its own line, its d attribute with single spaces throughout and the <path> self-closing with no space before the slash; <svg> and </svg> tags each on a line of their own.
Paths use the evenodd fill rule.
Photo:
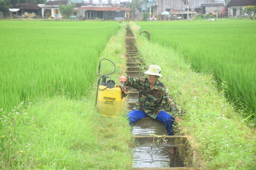
<svg viewBox="0 0 256 170">
<path fill-rule="evenodd" d="M 166 106 L 169 107 L 172 117 L 175 119 L 179 110 L 165 84 L 157 79 L 154 87 L 150 89 L 148 78 L 127 78 L 126 86 L 131 86 L 139 91 L 138 102 L 133 110 L 143 110 L 148 116 L 155 119 L 163 111 L 162 101 L 164 100 Z"/>
</svg>

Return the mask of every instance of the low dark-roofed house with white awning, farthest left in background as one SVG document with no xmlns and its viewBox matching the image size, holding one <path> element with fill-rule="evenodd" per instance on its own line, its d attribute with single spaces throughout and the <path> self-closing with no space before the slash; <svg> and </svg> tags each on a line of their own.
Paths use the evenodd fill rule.
<svg viewBox="0 0 256 170">
<path fill-rule="evenodd" d="M 9 11 L 15 11 L 14 14 L 17 16 L 22 16 L 24 13 L 41 16 L 41 8 L 37 4 L 19 3 L 9 8 Z"/>
</svg>

